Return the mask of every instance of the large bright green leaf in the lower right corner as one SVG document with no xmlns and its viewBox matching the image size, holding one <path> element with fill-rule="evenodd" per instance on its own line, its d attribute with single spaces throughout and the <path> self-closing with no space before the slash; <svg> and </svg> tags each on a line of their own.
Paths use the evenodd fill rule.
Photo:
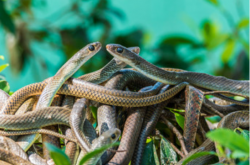
<svg viewBox="0 0 250 165">
<path fill-rule="evenodd" d="M 243 136 L 230 129 L 219 128 L 208 132 L 206 135 L 209 139 L 217 142 L 221 146 L 227 147 L 233 151 L 249 154 L 248 141 Z"/>
</svg>

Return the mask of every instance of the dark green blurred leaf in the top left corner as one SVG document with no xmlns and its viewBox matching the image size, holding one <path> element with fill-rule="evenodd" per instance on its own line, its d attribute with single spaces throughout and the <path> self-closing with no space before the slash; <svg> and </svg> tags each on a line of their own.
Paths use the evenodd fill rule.
<svg viewBox="0 0 250 165">
<path fill-rule="evenodd" d="M 15 25 L 8 12 L 5 10 L 4 3 L 4 1 L 0 1 L 0 23 L 5 27 L 5 29 L 15 34 Z"/>
</svg>

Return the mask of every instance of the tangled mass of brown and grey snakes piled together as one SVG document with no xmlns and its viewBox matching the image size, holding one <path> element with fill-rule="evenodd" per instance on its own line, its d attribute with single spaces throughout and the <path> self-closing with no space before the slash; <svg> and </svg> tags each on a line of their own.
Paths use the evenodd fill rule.
<svg viewBox="0 0 250 165">
<path fill-rule="evenodd" d="M 53 77 L 11 96 L 1 90 L 0 164 L 55 164 L 47 143 L 64 148 L 71 164 L 80 164 L 86 154 L 119 142 L 84 164 L 140 165 L 152 137 L 164 138 L 178 157 L 161 159 L 162 164 L 182 164 L 197 152 L 216 152 L 206 137 L 212 129 L 249 129 L 248 80 L 159 68 L 138 55 L 139 47 L 118 44 L 106 46 L 114 56 L 106 66 L 72 78 L 100 49 L 99 42 L 86 45 Z M 124 69 L 127 65 L 132 68 Z M 183 128 L 173 111 L 185 119 Z M 206 120 L 211 116 L 221 117 L 217 126 Z M 205 155 L 188 164 L 211 160 L 225 161 Z"/>
</svg>

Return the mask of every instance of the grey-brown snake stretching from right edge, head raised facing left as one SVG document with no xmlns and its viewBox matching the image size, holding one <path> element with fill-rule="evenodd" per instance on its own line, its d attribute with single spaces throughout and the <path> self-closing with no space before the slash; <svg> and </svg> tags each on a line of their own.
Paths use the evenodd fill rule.
<svg viewBox="0 0 250 165">
<path fill-rule="evenodd" d="M 115 58 L 127 63 L 145 76 L 164 84 L 175 85 L 188 82 L 191 85 L 213 91 L 225 91 L 249 98 L 249 81 L 232 80 L 197 72 L 169 72 L 163 70 L 119 44 L 106 45 L 107 51 Z"/>
</svg>

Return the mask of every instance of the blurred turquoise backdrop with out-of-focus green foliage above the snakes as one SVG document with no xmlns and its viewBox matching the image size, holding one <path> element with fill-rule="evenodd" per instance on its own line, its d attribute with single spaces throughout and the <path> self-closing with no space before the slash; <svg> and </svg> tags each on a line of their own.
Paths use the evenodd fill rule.
<svg viewBox="0 0 250 165">
<path fill-rule="evenodd" d="M 0 0 L 1 76 L 16 91 L 100 41 L 75 76 L 103 67 L 105 45 L 118 43 L 159 67 L 249 79 L 248 13 L 248 0 Z"/>
</svg>

